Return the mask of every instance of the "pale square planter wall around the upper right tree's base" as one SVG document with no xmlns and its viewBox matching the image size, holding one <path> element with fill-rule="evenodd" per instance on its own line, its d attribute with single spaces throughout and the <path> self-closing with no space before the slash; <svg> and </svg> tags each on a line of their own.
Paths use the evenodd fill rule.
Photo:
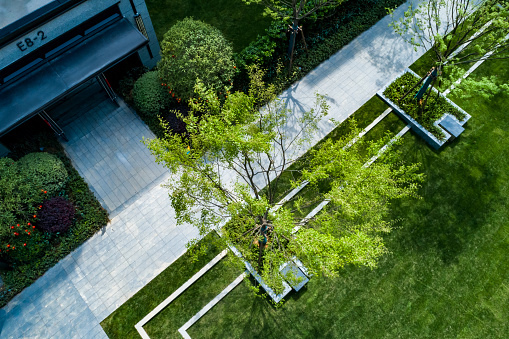
<svg viewBox="0 0 509 339">
<path fill-rule="evenodd" d="M 403 74 L 405 74 L 407 72 L 410 73 L 410 74 L 413 74 L 414 76 L 416 76 L 418 78 L 420 78 L 417 74 L 415 74 L 415 72 L 413 72 L 409 68 L 407 68 L 405 71 L 403 71 L 401 74 L 399 74 L 396 78 L 399 78 L 400 76 L 402 76 Z M 378 95 L 378 97 L 380 97 L 383 101 L 385 101 L 387 103 L 387 105 L 389 105 L 393 109 L 393 111 L 401 117 L 401 119 L 403 119 L 408 125 L 410 125 L 412 130 L 415 133 L 417 133 L 421 138 L 423 138 L 431 147 L 433 147 L 434 149 L 439 149 L 440 147 L 442 147 L 447 142 L 447 140 L 449 140 L 451 138 L 451 135 L 446 130 L 444 130 L 441 126 L 438 125 L 445 118 L 446 114 L 444 114 L 440 119 L 438 119 L 437 121 L 435 121 L 433 123 L 435 126 L 440 128 L 443 131 L 444 135 L 445 135 L 445 139 L 444 140 L 439 140 L 437 137 L 435 137 L 433 134 L 431 134 L 431 132 L 429 132 L 421 124 L 419 124 L 414 118 L 412 118 L 410 115 L 408 115 L 403 109 L 401 109 L 401 107 L 399 107 L 396 103 L 394 103 L 392 100 L 390 100 L 389 98 L 387 98 L 383 94 L 385 89 L 389 85 L 390 84 L 384 86 L 380 91 L 378 91 L 376 93 Z M 437 92 L 437 90 L 435 88 L 433 88 L 433 91 L 435 91 L 435 93 Z M 463 126 L 471 118 L 470 114 L 465 112 L 461 107 L 456 105 L 451 100 L 447 99 L 447 97 L 445 97 L 444 95 L 442 95 L 442 94 L 440 94 L 440 95 L 448 103 L 450 103 L 452 106 L 457 108 L 460 112 L 463 112 L 465 114 L 465 118 L 462 121 L 458 121 L 458 119 L 456 119 L 454 116 L 451 115 L 451 117 L 454 120 L 458 121 L 458 123 L 461 126 Z"/>
</svg>

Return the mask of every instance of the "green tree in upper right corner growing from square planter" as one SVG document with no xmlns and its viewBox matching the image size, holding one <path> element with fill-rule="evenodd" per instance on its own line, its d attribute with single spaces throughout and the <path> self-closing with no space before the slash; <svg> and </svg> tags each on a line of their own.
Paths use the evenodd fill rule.
<svg viewBox="0 0 509 339">
<path fill-rule="evenodd" d="M 468 69 L 465 65 L 507 58 L 508 18 L 506 0 L 425 0 L 410 6 L 402 17 L 393 16 L 391 26 L 399 35 L 416 49 L 431 51 L 429 71 L 405 96 L 414 94 L 423 84 L 417 96 L 422 113 L 431 89 L 440 87 L 442 81 L 447 85 L 456 81 Z M 468 79 L 462 86 L 485 94 L 505 88 L 495 77 Z"/>
</svg>

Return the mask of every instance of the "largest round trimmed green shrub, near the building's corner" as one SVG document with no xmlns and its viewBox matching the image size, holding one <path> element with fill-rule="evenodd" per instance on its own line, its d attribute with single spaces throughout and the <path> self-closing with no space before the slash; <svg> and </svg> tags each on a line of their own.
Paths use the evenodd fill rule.
<svg viewBox="0 0 509 339">
<path fill-rule="evenodd" d="M 217 28 L 186 18 L 164 35 L 159 76 L 178 102 L 193 96 L 197 79 L 224 93 L 235 68 L 232 46 Z"/>
</svg>

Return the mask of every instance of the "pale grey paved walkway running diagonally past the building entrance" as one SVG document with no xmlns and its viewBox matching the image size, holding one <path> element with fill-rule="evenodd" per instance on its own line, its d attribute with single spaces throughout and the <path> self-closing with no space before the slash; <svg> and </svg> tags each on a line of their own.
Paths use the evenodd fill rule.
<svg viewBox="0 0 509 339">
<path fill-rule="evenodd" d="M 397 12 L 401 15 L 402 10 Z M 283 93 L 282 97 L 296 113 L 313 106 L 313 93 L 328 96 L 330 115 L 321 122 L 321 134 L 316 141 L 332 130 L 329 118 L 346 119 L 422 54 L 395 36 L 388 23 L 388 18 L 383 19 Z M 132 119 L 128 109 L 122 107 L 118 112 L 116 119 L 130 119 L 133 131 L 127 133 L 132 133 L 129 135 L 132 140 L 151 137 L 139 119 Z M 76 147 L 93 152 L 95 148 L 90 145 L 95 143 L 105 147 L 99 156 L 110 154 L 108 159 L 114 159 L 115 148 L 125 159 L 130 159 L 125 153 L 129 152 L 127 146 L 123 146 L 127 144 L 117 143 L 106 132 L 88 135 L 92 137 L 83 138 L 80 145 L 77 141 Z M 109 138 L 107 143 L 105 137 Z M 112 204 L 108 205 L 108 196 L 122 184 L 107 185 L 109 190 L 101 192 L 98 188 L 104 188 L 101 178 L 87 172 L 95 166 L 101 168 L 99 171 L 108 171 L 98 166 L 104 159 L 81 160 L 78 151 L 68 152 L 106 207 L 116 215 L 103 232 L 0 310 L 0 338 L 105 338 L 99 322 L 184 253 L 185 243 L 197 235 L 193 228 L 175 226 L 167 192 L 158 185 L 165 181 L 164 174 L 157 177 L 157 173 L 152 173 L 156 177 L 152 186 L 148 184 L 145 190 L 134 192 L 134 198 L 133 192 L 131 197 L 120 193 L 122 199 L 114 193 L 118 199 L 112 198 Z M 132 154 L 131 161 L 152 166 L 138 152 Z M 124 177 L 120 173 L 116 173 L 120 181 L 138 180 L 138 175 L 123 173 L 127 175 Z M 147 174 L 142 170 L 142 176 Z"/>
</svg>

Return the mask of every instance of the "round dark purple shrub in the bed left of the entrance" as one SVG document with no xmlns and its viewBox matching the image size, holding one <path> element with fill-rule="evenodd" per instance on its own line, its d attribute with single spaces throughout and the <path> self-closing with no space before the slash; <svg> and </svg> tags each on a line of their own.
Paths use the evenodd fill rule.
<svg viewBox="0 0 509 339">
<path fill-rule="evenodd" d="M 74 219 L 74 206 L 63 197 L 54 197 L 42 203 L 37 227 L 46 232 L 65 232 Z"/>
</svg>

